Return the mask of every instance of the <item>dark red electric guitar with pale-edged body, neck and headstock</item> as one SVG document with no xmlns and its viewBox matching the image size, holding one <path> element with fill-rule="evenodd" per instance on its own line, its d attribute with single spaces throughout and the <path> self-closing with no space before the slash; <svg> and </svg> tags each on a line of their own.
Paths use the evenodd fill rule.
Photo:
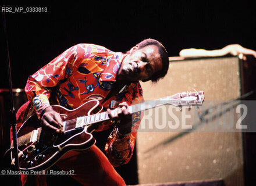
<svg viewBox="0 0 256 186">
<path fill-rule="evenodd" d="M 180 107 L 202 105 L 203 101 L 203 91 L 183 92 L 131 105 L 127 109 L 132 114 L 166 104 Z M 91 133 L 97 128 L 97 124 L 109 120 L 107 112 L 101 112 L 102 106 L 96 99 L 88 101 L 74 110 L 68 110 L 59 105 L 53 105 L 52 108 L 62 117 L 62 133 L 44 133 L 39 125 L 40 120 L 37 115 L 29 117 L 17 132 L 20 170 L 48 169 L 66 152 L 90 148 L 96 142 Z M 11 148 L 13 148 L 13 144 Z M 13 157 L 13 152 L 11 152 L 12 164 L 15 162 Z"/>
</svg>

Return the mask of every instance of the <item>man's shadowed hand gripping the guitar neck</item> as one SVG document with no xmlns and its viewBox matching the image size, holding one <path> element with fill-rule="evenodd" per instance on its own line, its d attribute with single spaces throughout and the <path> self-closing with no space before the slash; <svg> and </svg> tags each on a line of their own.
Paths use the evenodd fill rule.
<svg viewBox="0 0 256 186">
<path fill-rule="evenodd" d="M 112 112 L 111 109 L 107 109 L 108 117 L 116 121 L 118 131 L 123 135 L 131 132 L 131 113 L 127 109 L 128 106 L 126 102 L 123 102 L 119 104 L 119 108 L 112 110 Z"/>
</svg>

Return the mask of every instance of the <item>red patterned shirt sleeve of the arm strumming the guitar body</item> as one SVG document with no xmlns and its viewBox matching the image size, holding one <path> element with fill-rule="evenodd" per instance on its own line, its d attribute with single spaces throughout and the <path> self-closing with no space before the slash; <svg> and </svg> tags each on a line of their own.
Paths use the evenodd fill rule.
<svg viewBox="0 0 256 186">
<path fill-rule="evenodd" d="M 82 46 L 79 44 L 67 49 L 28 78 L 25 91 L 38 117 L 44 108 L 50 106 L 51 88 L 70 76 L 75 63 L 84 56 L 86 49 Z"/>
</svg>

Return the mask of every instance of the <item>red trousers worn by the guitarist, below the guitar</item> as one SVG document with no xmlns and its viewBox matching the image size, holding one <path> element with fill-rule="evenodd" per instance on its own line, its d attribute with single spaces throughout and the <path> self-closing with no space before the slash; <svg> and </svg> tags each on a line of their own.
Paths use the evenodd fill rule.
<svg viewBox="0 0 256 186">
<path fill-rule="evenodd" d="M 73 170 L 70 177 L 82 185 L 126 185 L 97 146 L 86 151 L 69 151 L 57 163 L 61 170 Z M 51 168 L 49 168 L 51 170 Z M 22 185 L 47 185 L 46 175 L 22 175 Z"/>
</svg>

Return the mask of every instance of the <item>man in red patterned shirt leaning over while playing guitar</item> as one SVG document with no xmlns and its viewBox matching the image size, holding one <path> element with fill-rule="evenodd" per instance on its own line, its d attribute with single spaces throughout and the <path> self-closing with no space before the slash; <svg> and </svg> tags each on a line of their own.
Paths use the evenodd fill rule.
<svg viewBox="0 0 256 186">
<path fill-rule="evenodd" d="M 17 112 L 18 127 L 34 112 L 45 133 L 63 133 L 63 118 L 51 105 L 66 109 L 79 108 L 97 99 L 112 122 L 98 124 L 95 132 L 113 124 L 105 152 L 93 145 L 85 151 L 69 151 L 56 162 L 62 170 L 74 170 L 70 175 L 83 185 L 125 185 L 113 166 L 129 162 L 141 120 L 127 106 L 143 102 L 138 81 L 157 82 L 169 67 L 168 53 L 163 45 L 152 39 L 141 41 L 127 53 L 112 52 L 94 44 L 78 44 L 63 52 L 29 77 L 25 88 L 29 102 Z M 111 110 L 115 109 L 113 112 Z M 36 178 L 22 175 L 22 185 L 46 185 L 46 176 Z"/>
</svg>

